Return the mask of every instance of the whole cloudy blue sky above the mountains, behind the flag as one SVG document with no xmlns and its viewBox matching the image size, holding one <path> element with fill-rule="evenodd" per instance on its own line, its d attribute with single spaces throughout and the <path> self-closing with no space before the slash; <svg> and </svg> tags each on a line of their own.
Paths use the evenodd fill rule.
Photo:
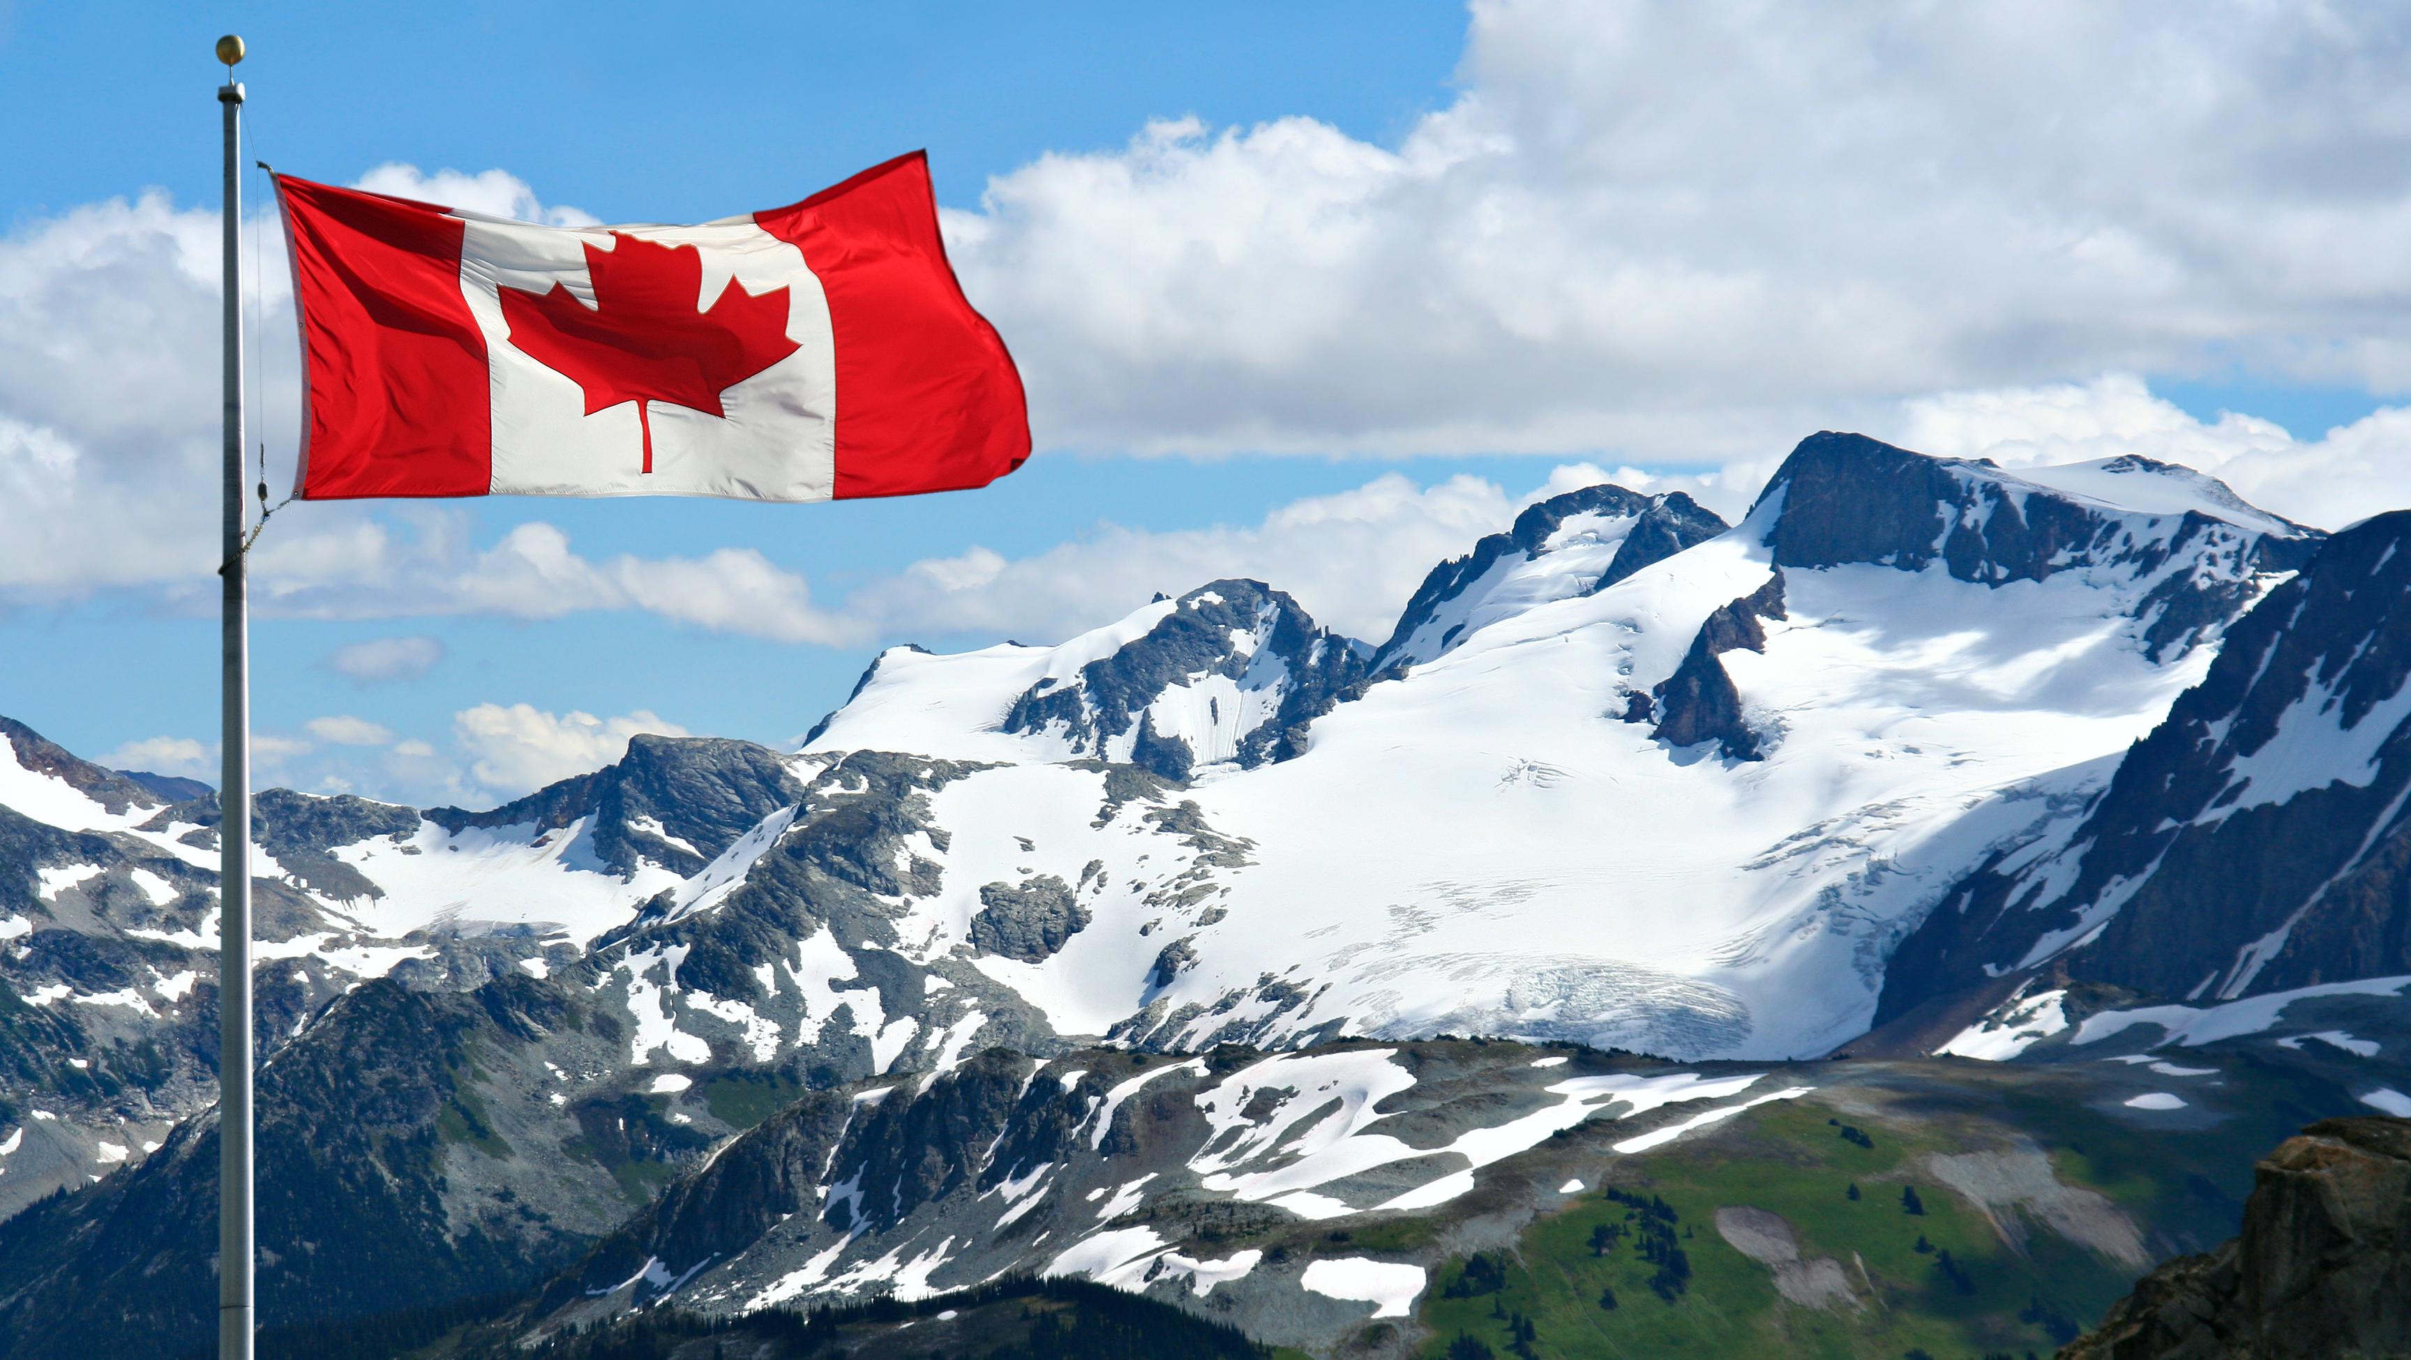
<svg viewBox="0 0 2411 1360">
<path fill-rule="evenodd" d="M 2093 24 L 2069 14 L 2049 22 Z M 345 567 L 352 576 L 321 591 L 335 603 L 313 605 L 323 617 L 263 608 L 253 711 L 282 740 L 272 774 L 489 801 L 550 767 L 480 748 L 487 738 L 463 726 L 480 704 L 788 740 L 882 644 L 1054 641 L 1152 588 L 1203 579 L 1184 571 L 1263 574 L 1379 634 L 1422 567 L 1553 475 L 1586 475 L 1560 468 L 1630 470 L 1618 475 L 1734 511 L 1815 427 L 2004 461 L 2151 451 L 2322 523 L 2353 504 L 2401 504 L 2411 482 L 2389 420 L 2411 367 L 2394 323 L 2370 321 L 2368 304 L 2404 280 L 2269 268 L 2384 241 L 2384 215 L 2404 203 L 2399 169 L 2360 176 L 2351 159 L 2399 142 L 2399 121 L 2331 80 L 2401 39 L 2365 27 L 2298 60 L 2303 70 L 2262 63 L 2266 36 L 2199 39 L 2211 46 L 2192 55 L 2230 68 L 2237 106 L 2119 106 L 2073 154 L 2023 101 L 2035 89 L 2088 99 L 2095 55 L 2078 43 L 2045 53 L 2042 75 L 2032 53 L 2023 70 L 2008 65 L 2020 53 L 2004 53 L 1994 70 L 1982 65 L 1999 46 L 1989 34 L 1885 48 L 1881 17 L 1842 10 L 1813 34 L 1762 34 L 1753 55 L 1741 43 L 1750 34 L 1683 7 L 1543 0 L 1478 5 L 1471 19 L 1461 5 L 1384 2 L 723 5 L 697 22 L 634 5 L 229 5 L 195 17 L 19 2 L 0 7 L 0 77 L 41 116 L 0 133 L 14 251 L 0 251 L 0 328 L 12 299 L 39 294 L 39 306 L 14 304 L 14 321 L 41 313 L 48 338 L 0 338 L 0 362 L 10 345 L 48 345 L 43 354 L 72 350 L 106 369 L 111 345 L 140 350 L 149 357 L 111 369 L 135 393 L 128 405 L 176 388 L 145 364 L 190 362 L 215 381 L 205 330 L 164 354 L 142 350 L 137 333 L 178 321 L 116 316 L 118 304 L 152 306 L 154 275 L 111 251 L 133 258 L 169 227 L 207 227 L 193 215 L 217 198 L 207 48 L 219 29 L 251 41 L 253 152 L 309 178 L 354 181 L 393 162 L 429 176 L 499 169 L 545 205 L 675 222 L 788 203 L 928 147 L 940 203 L 957 210 L 964 282 L 1029 374 L 1042 449 L 1029 468 L 984 492 L 902 502 L 494 499 L 439 511 L 461 535 L 439 574 L 468 569 L 514 528 L 552 526 L 598 562 L 752 550 L 808 586 L 813 610 L 844 617 L 747 634 L 624 603 L 562 617 L 540 605 L 383 608 L 381 574 L 432 571 L 429 555 Z M 2088 41 L 2105 48 L 2098 60 L 2117 60 L 2119 43 L 2143 51 L 2155 36 Z M 1803 157 L 1774 147 L 1784 169 L 1758 162 L 1734 109 L 1762 99 L 1753 116 L 1767 128 L 1842 118 L 1823 104 L 1835 99 L 1828 70 L 1900 104 L 1876 111 L 1881 133 L 1840 135 L 1840 159 L 1808 164 L 1801 174 L 1815 178 L 1787 188 Z M 2237 118 L 2278 106 L 2298 113 L 2300 145 L 2233 147 L 2223 128 L 2264 125 Z M 2336 183 L 2298 183 L 2300 166 L 2327 162 Z M 142 217 L 145 190 L 166 195 L 154 217 L 169 227 Z M 94 210 L 111 200 L 135 207 Z M 1849 215 L 1902 217 L 1888 203 L 1941 207 L 1900 241 L 1854 241 L 1866 231 Z M 2307 236 L 2319 248 L 2274 227 L 2167 227 L 2177 207 L 2221 222 L 2237 203 L 2324 215 Z M 2049 229 L 1965 231 L 2011 217 Z M 1099 260 L 1099 241 L 1126 258 Z M 2069 280 L 2064 297 L 2054 280 Z M 1885 289 L 1905 301 L 1815 330 L 1847 311 L 1823 299 L 1854 306 Z M 1136 309 L 1119 306 L 1128 297 Z M 280 374 L 289 383 L 287 335 L 270 328 L 263 354 L 272 395 Z M 135 427 L 116 400 L 108 383 L 75 398 L 0 379 L 0 490 L 10 456 L 39 473 L 72 453 L 96 490 L 51 511 L 46 530 L 108 545 L 111 562 L 181 535 L 157 528 L 178 516 L 195 543 L 215 538 L 215 499 L 193 480 L 215 403 Z M 282 405 L 272 441 L 289 439 L 280 422 L 289 429 Z M 2329 439 L 2339 427 L 2356 434 Z M 145 463 L 159 446 L 186 453 Z M 289 465 L 287 449 L 277 456 Z M 157 487 L 203 494 L 137 506 Z M 0 509 L 12 514 L 22 540 L 39 538 L 34 502 Z M 301 550 L 342 533 L 383 535 L 376 552 L 393 555 L 424 530 L 386 511 L 342 514 L 294 506 L 268 530 L 297 555 L 280 567 L 287 579 L 306 584 Z M 1350 528 L 1316 528 L 1333 521 Z M 914 574 L 974 550 L 991 562 L 974 586 Z M 149 750 L 159 764 L 215 740 L 212 598 L 178 562 L 29 562 L 14 579 L 0 567 L 0 714 L 87 755 Z M 441 661 L 379 682 L 330 663 L 395 637 L 434 639 Z M 381 740 L 338 740 L 362 731 Z M 407 743 L 427 755 L 395 757 Z M 564 760 L 576 750 L 555 752 Z"/>
</svg>

